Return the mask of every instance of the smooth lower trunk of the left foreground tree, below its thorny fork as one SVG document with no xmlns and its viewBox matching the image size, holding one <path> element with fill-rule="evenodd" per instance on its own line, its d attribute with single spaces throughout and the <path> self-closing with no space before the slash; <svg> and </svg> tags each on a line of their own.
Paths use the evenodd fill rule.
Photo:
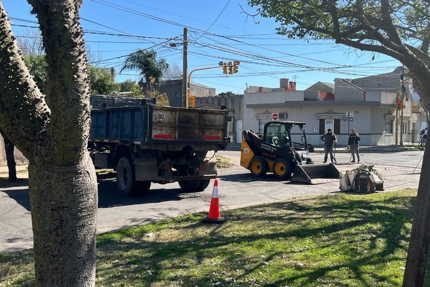
<svg viewBox="0 0 430 287">
<path fill-rule="evenodd" d="M 29 182 L 36 286 L 94 286 L 97 182 L 88 153 L 76 166 L 31 161 Z"/>
</svg>

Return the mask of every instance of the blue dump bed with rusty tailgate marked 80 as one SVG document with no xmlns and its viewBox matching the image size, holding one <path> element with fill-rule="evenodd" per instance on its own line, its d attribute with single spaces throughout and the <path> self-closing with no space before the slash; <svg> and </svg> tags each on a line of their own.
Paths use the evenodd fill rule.
<svg viewBox="0 0 430 287">
<path fill-rule="evenodd" d="M 98 109 L 91 111 L 89 142 L 138 144 L 142 149 L 191 146 L 203 151 L 224 149 L 229 140 L 226 110 L 157 106 L 144 98 L 103 102 L 99 97 Z"/>
</svg>

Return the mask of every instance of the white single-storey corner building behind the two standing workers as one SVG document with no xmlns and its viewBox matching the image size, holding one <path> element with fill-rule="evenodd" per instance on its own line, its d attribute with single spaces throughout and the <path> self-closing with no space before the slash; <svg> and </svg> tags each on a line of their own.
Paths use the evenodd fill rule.
<svg viewBox="0 0 430 287">
<path fill-rule="evenodd" d="M 411 142 L 411 131 L 418 129 L 416 117 L 412 117 L 413 91 L 408 81 L 403 83 L 404 88 L 400 86 L 401 74 L 402 68 L 398 67 L 387 74 L 353 80 L 337 78 L 334 85 L 318 82 L 305 91 L 296 91 L 296 83 L 288 79 L 280 80 L 280 88 L 251 86 L 244 93 L 243 128 L 262 133 L 264 124 L 277 114 L 278 120 L 305 122 L 310 144 L 322 144 L 320 135 L 328 128 L 334 130 L 342 145 L 347 144 L 351 128 L 360 134 L 361 145 L 395 144 L 399 93 L 404 108 L 398 111 L 398 140 L 401 137 L 403 142 Z"/>
</svg>

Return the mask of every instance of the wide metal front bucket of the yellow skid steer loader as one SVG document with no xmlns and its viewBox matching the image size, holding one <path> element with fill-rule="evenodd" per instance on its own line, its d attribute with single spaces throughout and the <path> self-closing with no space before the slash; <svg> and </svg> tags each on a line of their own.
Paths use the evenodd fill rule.
<svg viewBox="0 0 430 287">
<path fill-rule="evenodd" d="M 305 184 L 322 184 L 338 181 L 339 170 L 333 163 L 297 165 L 291 181 Z"/>
</svg>

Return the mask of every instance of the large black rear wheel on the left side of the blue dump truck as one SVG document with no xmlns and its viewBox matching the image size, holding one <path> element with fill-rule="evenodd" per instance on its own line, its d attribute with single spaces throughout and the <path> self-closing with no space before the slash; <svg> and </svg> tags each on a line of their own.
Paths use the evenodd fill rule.
<svg viewBox="0 0 430 287">
<path fill-rule="evenodd" d="M 122 157 L 117 164 L 117 187 L 122 195 L 134 195 L 140 190 L 140 182 L 135 180 L 134 167 L 127 157 Z"/>
</svg>

